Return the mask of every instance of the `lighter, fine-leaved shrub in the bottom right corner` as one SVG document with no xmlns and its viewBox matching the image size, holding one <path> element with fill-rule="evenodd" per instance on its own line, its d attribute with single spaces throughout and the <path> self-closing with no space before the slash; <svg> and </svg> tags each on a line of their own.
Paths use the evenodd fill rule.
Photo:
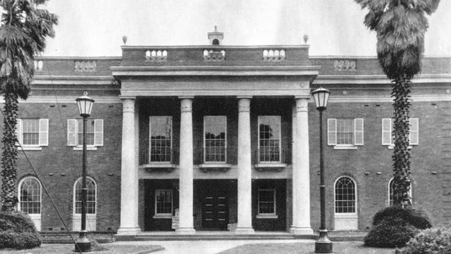
<svg viewBox="0 0 451 254">
<path fill-rule="evenodd" d="M 430 228 L 418 233 L 406 244 L 402 254 L 451 253 L 451 232 L 445 228 Z"/>
</svg>

